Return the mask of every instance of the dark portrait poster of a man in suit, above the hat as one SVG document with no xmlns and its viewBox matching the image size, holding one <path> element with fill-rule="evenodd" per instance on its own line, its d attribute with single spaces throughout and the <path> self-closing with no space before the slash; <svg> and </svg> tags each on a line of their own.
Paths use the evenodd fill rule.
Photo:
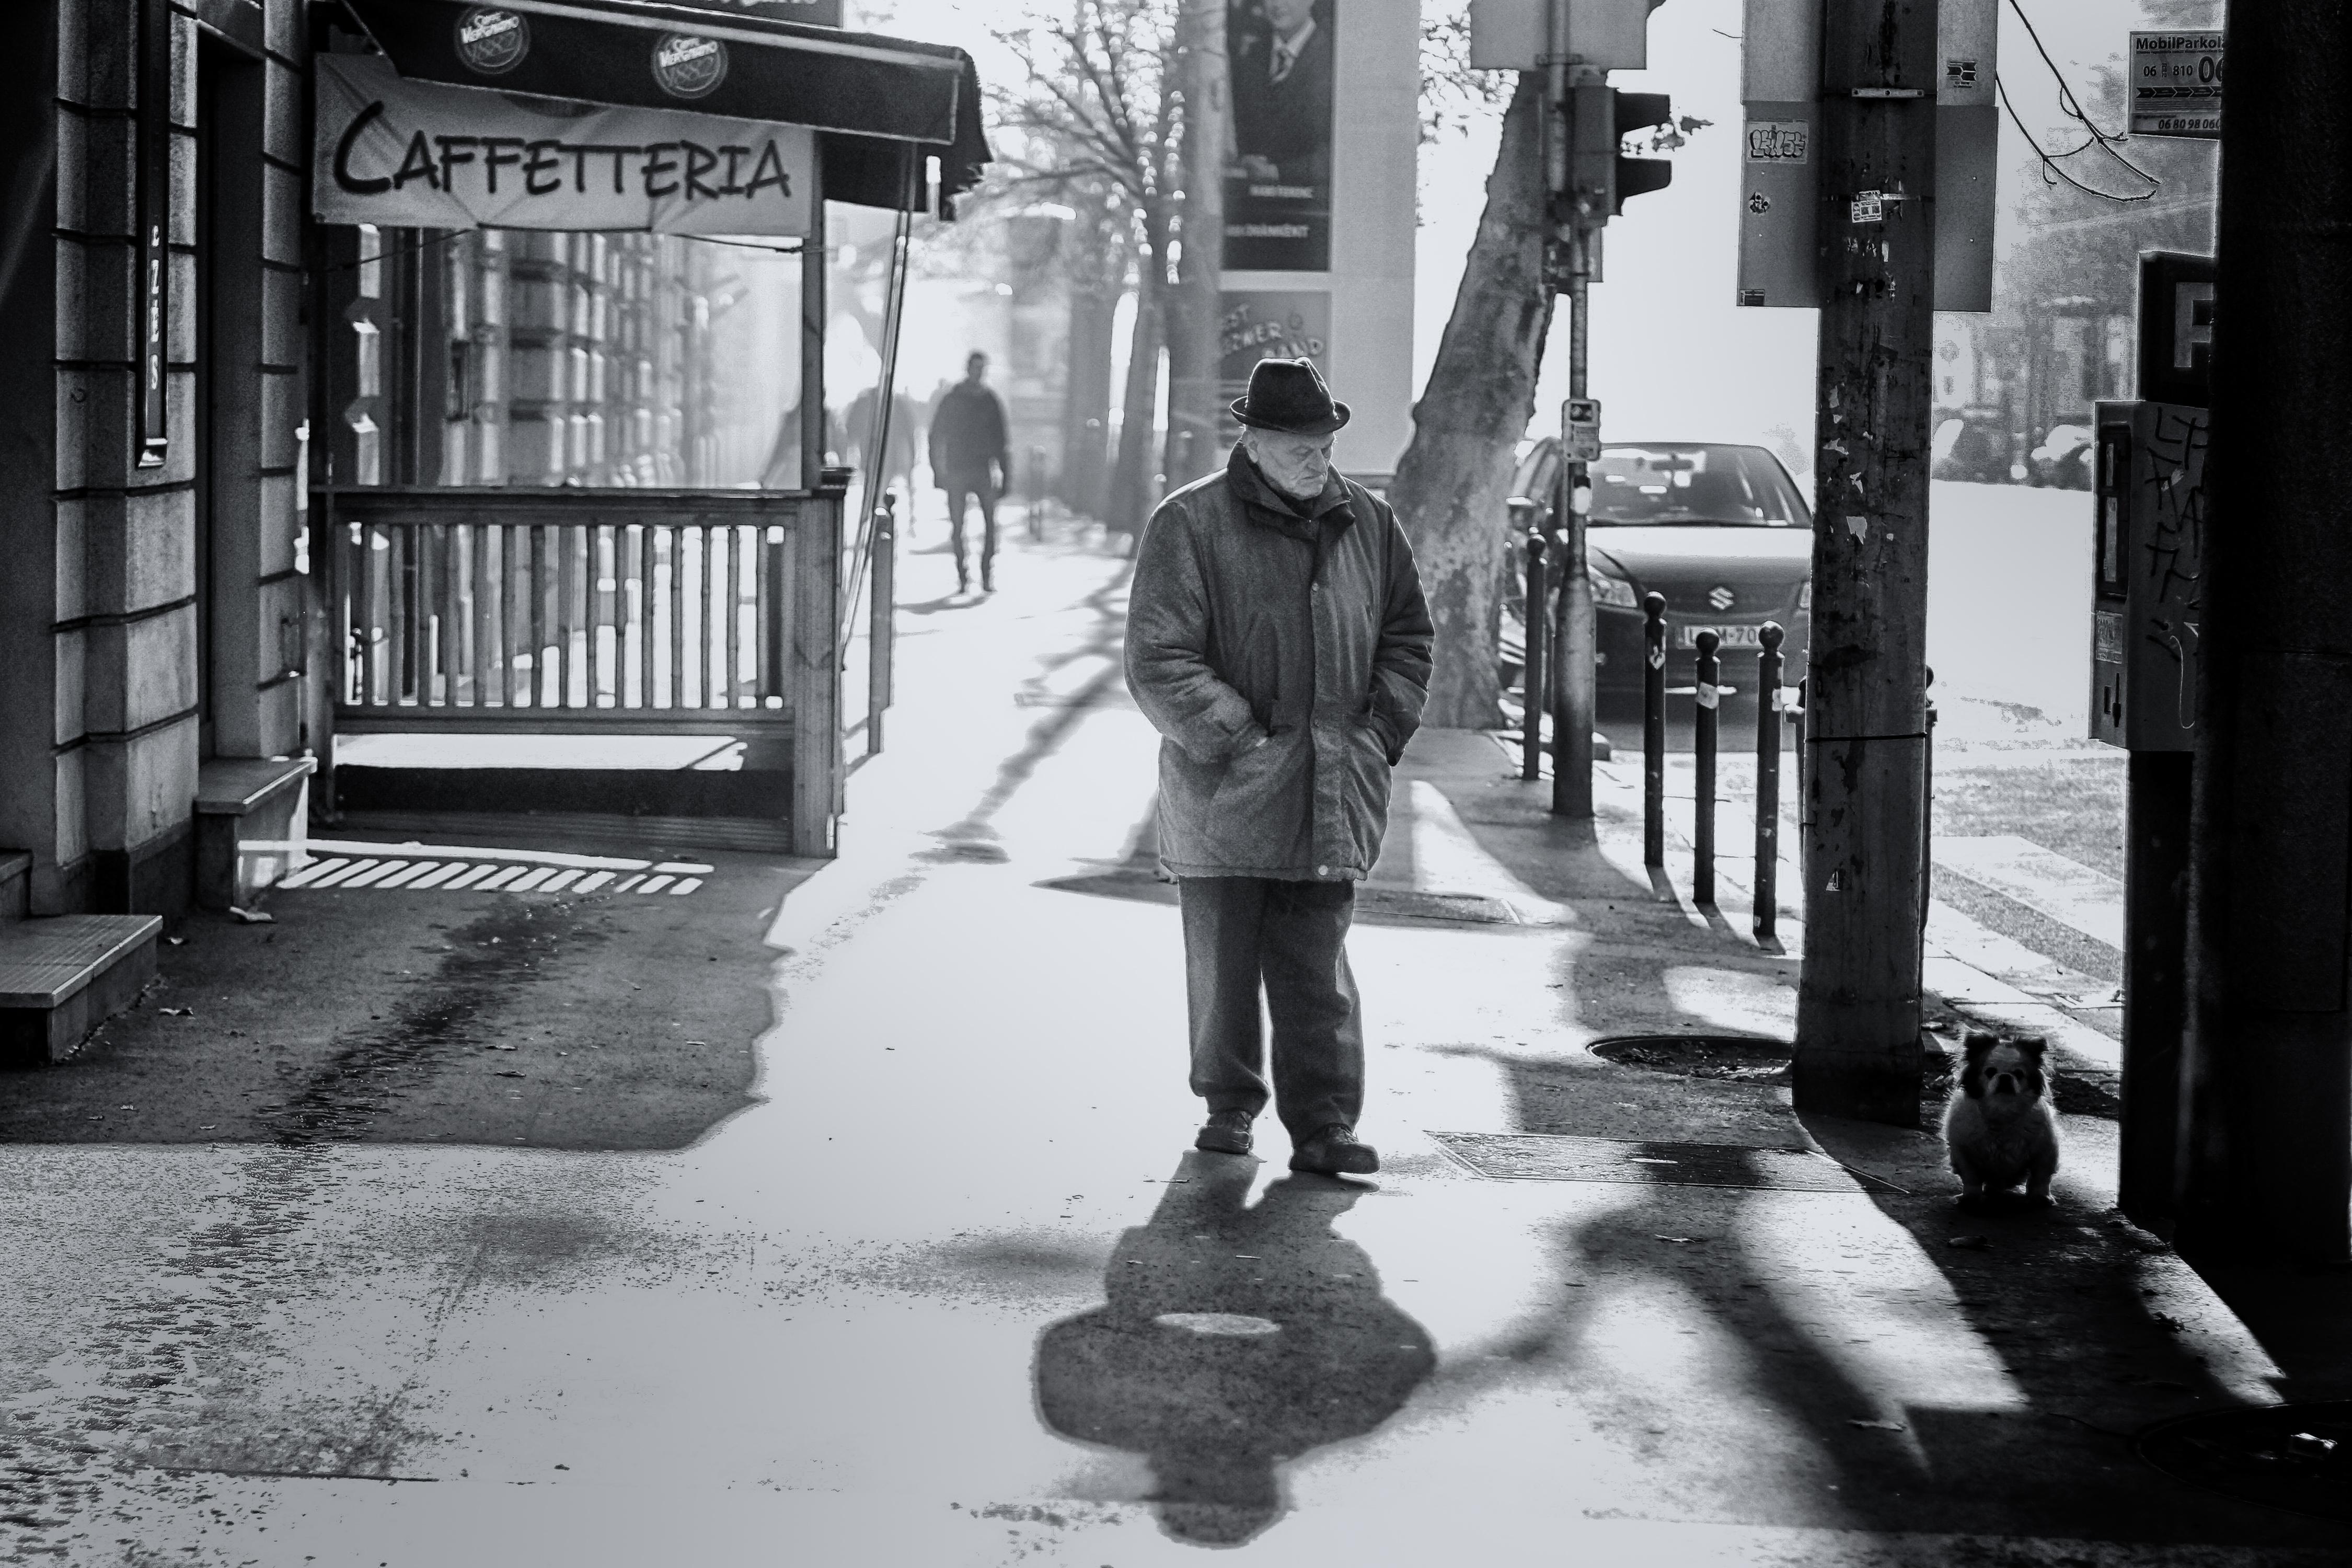
<svg viewBox="0 0 2352 1568">
<path fill-rule="evenodd" d="M 1331 270 L 1331 87 L 1338 0 L 1228 0 L 1232 162 L 1225 270 Z"/>
</svg>

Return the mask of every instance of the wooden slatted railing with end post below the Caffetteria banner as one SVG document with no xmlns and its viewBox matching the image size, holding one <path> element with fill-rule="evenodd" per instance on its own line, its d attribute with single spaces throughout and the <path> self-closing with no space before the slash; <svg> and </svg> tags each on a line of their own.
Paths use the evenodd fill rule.
<svg viewBox="0 0 2352 1568">
<path fill-rule="evenodd" d="M 840 790 L 842 494 L 346 489 L 336 731 L 793 738 L 795 846 Z M 823 806 L 818 811 L 818 804 Z"/>
</svg>

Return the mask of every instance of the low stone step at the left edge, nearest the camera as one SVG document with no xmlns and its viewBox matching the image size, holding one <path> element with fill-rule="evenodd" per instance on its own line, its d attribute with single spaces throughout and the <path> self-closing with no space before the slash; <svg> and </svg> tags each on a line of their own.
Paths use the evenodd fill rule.
<svg viewBox="0 0 2352 1568">
<path fill-rule="evenodd" d="M 158 914 L 0 924 L 0 1067 L 61 1063 L 155 978 Z"/>
</svg>

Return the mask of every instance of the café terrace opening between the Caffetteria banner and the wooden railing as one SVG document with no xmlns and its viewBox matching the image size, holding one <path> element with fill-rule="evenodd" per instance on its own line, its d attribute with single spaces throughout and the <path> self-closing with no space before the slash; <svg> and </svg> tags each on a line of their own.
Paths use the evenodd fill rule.
<svg viewBox="0 0 2352 1568">
<path fill-rule="evenodd" d="M 334 484 L 800 489 L 797 242 L 327 233 Z"/>
</svg>

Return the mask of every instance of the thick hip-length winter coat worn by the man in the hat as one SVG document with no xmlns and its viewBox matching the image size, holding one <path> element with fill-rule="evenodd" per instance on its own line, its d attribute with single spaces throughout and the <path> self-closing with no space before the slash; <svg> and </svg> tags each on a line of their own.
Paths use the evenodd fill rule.
<svg viewBox="0 0 2352 1568">
<path fill-rule="evenodd" d="M 1160 729 L 1178 877 L 1355 882 L 1430 691 L 1430 609 L 1388 503 L 1336 470 L 1291 501 L 1235 447 L 1136 552 L 1127 689 Z"/>
</svg>

